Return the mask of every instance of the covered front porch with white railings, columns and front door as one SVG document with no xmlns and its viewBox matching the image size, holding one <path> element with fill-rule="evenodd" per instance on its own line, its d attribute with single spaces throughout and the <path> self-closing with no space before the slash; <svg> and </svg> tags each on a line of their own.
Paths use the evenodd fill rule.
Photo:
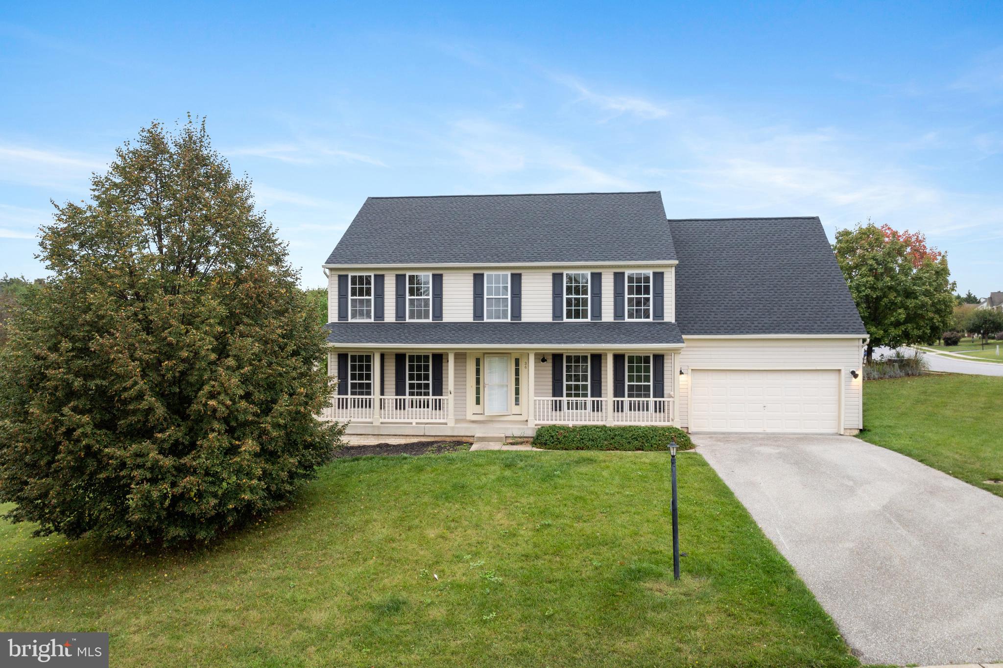
<svg viewBox="0 0 1003 668">
<path fill-rule="evenodd" d="M 339 394 L 320 417 L 350 434 L 432 437 L 678 425 L 678 352 L 339 349 L 329 362 Z"/>
</svg>

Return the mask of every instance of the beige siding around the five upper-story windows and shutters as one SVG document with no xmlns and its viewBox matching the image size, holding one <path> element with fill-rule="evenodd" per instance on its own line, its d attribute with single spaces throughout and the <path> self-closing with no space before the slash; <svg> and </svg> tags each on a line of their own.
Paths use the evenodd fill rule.
<svg viewBox="0 0 1003 668">
<path fill-rule="evenodd" d="M 595 268 L 584 265 L 571 270 L 567 267 L 510 267 L 477 270 L 477 273 L 506 272 L 523 275 L 523 320 L 525 322 L 548 322 L 553 319 L 552 275 L 555 272 L 587 271 Z M 629 271 L 665 272 L 665 319 L 675 319 L 675 267 L 604 267 L 603 274 L 603 320 L 613 320 L 613 274 Z M 364 270 L 340 273 L 365 274 Z M 406 274 L 407 271 L 400 273 Z M 473 320 L 473 274 L 472 269 L 422 270 L 426 274 L 442 274 L 442 319 L 445 322 L 470 322 Z M 338 319 L 338 274 L 331 270 L 328 292 L 329 321 Z M 396 273 L 383 275 L 383 315 L 384 320 L 396 319 Z"/>
</svg>

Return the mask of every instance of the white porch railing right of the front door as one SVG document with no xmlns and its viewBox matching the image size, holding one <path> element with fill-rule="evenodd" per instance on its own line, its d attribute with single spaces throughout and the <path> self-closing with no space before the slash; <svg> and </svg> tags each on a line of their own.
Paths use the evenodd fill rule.
<svg viewBox="0 0 1003 668">
<path fill-rule="evenodd" d="M 537 424 L 671 424 L 675 403 L 665 399 L 534 399 Z M 612 413 L 608 412 L 612 408 Z"/>
</svg>

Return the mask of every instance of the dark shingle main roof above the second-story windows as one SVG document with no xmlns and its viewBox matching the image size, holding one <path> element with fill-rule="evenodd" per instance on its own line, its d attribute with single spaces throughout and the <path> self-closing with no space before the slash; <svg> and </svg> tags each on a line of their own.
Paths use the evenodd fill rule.
<svg viewBox="0 0 1003 668">
<path fill-rule="evenodd" d="M 368 198 L 326 264 L 675 259 L 653 191 Z"/>
</svg>

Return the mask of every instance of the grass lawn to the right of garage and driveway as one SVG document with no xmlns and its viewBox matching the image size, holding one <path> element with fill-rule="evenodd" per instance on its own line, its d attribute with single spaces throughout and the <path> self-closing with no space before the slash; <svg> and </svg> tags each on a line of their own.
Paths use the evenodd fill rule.
<svg viewBox="0 0 1003 668">
<path fill-rule="evenodd" d="M 868 442 L 1003 496 L 1003 377 L 926 375 L 864 383 Z"/>
</svg>

